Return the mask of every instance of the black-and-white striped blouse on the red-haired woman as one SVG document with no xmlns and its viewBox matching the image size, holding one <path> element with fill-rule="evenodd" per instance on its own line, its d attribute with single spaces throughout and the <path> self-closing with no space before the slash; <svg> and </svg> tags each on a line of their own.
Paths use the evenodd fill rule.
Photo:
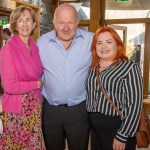
<svg viewBox="0 0 150 150">
<path fill-rule="evenodd" d="M 122 112 L 122 126 L 116 138 L 126 142 L 138 128 L 143 98 L 143 80 L 138 64 L 120 60 L 99 74 L 100 83 L 113 103 Z M 118 116 L 100 91 L 96 82 L 96 69 L 90 69 L 86 79 L 87 111 Z"/>
</svg>

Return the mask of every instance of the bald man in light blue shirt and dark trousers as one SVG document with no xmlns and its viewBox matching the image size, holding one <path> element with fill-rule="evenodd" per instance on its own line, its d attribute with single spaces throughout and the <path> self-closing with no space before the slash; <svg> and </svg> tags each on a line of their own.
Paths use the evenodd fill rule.
<svg viewBox="0 0 150 150">
<path fill-rule="evenodd" d="M 93 34 L 79 29 L 76 9 L 58 6 L 54 27 L 37 45 L 44 67 L 43 134 L 47 150 L 87 150 L 89 121 L 85 78 L 91 63 Z"/>
</svg>

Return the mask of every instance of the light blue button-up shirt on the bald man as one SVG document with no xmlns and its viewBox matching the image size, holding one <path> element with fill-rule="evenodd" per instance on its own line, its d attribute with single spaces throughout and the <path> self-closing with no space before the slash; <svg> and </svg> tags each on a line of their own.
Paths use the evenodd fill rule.
<svg viewBox="0 0 150 150">
<path fill-rule="evenodd" d="M 93 33 L 77 29 L 68 50 L 53 30 L 41 36 L 37 45 L 44 67 L 42 94 L 51 105 L 74 106 L 86 99 L 85 78 L 91 64 Z"/>
</svg>

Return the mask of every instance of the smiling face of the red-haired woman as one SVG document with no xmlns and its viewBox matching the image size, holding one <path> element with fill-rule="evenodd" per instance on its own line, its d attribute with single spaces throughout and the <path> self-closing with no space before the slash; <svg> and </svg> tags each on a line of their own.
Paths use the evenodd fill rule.
<svg viewBox="0 0 150 150">
<path fill-rule="evenodd" d="M 96 53 L 102 60 L 113 60 L 118 46 L 109 32 L 100 33 L 96 42 Z"/>
</svg>

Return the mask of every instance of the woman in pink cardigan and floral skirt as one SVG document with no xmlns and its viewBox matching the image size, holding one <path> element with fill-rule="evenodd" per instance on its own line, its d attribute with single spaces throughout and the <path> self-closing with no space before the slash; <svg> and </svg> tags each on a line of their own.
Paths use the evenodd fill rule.
<svg viewBox="0 0 150 150">
<path fill-rule="evenodd" d="M 4 133 L 0 149 L 44 149 L 41 131 L 43 68 L 31 34 L 38 27 L 34 11 L 17 7 L 10 16 L 14 34 L 0 54 Z"/>
</svg>

